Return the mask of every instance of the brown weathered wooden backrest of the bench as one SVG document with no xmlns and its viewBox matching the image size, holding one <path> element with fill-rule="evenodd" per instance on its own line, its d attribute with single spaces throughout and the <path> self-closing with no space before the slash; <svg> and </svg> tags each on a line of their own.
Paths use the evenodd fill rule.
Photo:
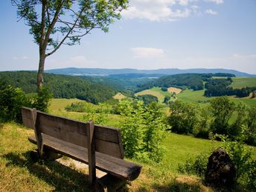
<svg viewBox="0 0 256 192">
<path fill-rule="evenodd" d="M 88 148 L 89 123 L 49 115 L 35 109 L 22 107 L 22 121 L 26 127 L 35 129 L 54 138 Z M 119 129 L 95 125 L 95 151 L 124 159 Z"/>
</svg>

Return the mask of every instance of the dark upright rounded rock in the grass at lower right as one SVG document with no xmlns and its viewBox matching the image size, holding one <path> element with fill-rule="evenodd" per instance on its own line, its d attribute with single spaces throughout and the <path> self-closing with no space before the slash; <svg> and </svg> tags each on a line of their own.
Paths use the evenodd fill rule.
<svg viewBox="0 0 256 192">
<path fill-rule="evenodd" d="M 208 185 L 231 186 L 234 184 L 235 169 L 228 153 L 223 148 L 214 150 L 208 159 L 205 182 Z"/>
</svg>

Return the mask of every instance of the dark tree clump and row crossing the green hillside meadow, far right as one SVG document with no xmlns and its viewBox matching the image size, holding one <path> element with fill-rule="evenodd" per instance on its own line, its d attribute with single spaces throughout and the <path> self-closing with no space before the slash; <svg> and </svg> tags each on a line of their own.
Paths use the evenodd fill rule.
<svg viewBox="0 0 256 192">
<path fill-rule="evenodd" d="M 244 87 L 242 89 L 233 89 L 230 85 L 233 82 L 231 77 L 226 79 L 211 79 L 205 83 L 205 96 L 217 97 L 223 95 L 236 95 L 237 97 L 247 97 L 251 92 L 255 92 L 256 87 Z M 255 94 L 255 93 L 254 93 Z M 255 97 L 255 95 L 254 95 Z"/>
</svg>

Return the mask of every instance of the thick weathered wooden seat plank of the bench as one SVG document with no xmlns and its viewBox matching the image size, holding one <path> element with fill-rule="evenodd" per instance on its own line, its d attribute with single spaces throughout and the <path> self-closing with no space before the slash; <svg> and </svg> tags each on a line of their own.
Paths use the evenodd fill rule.
<svg viewBox="0 0 256 192">
<path fill-rule="evenodd" d="M 29 141 L 36 144 L 35 137 L 29 137 Z M 56 153 L 69 156 L 72 159 L 88 164 L 88 151 L 85 147 L 80 147 L 43 133 L 42 142 L 44 147 L 53 150 Z M 124 159 L 118 159 L 96 152 L 96 168 L 106 173 L 111 173 L 113 176 L 118 176 L 132 181 L 141 173 L 141 167 L 142 166 L 139 164 L 135 164 Z"/>
</svg>

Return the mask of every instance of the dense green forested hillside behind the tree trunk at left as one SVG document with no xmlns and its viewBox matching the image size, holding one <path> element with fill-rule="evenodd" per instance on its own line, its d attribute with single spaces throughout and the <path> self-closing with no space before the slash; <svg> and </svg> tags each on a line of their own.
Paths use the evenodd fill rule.
<svg viewBox="0 0 256 192">
<path fill-rule="evenodd" d="M 79 98 L 91 103 L 99 103 L 112 98 L 115 89 L 106 85 L 92 83 L 81 77 L 60 74 L 44 74 L 45 86 L 54 97 Z M 0 81 L 19 87 L 26 93 L 36 92 L 36 71 L 0 72 Z"/>
</svg>

